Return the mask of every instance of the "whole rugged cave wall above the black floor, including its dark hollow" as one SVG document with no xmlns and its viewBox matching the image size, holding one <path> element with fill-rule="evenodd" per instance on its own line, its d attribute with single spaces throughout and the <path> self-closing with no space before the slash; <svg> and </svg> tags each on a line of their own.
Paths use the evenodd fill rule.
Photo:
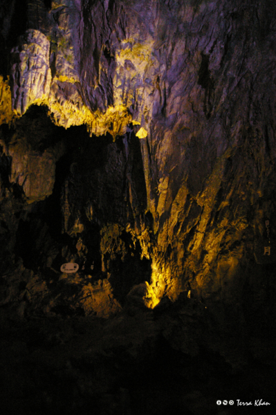
<svg viewBox="0 0 276 415">
<path fill-rule="evenodd" d="M 275 3 L 2 3 L 3 273 L 50 311 L 48 283 L 77 263 L 75 309 L 104 316 L 127 293 L 153 308 L 259 291 L 276 259 Z"/>
</svg>

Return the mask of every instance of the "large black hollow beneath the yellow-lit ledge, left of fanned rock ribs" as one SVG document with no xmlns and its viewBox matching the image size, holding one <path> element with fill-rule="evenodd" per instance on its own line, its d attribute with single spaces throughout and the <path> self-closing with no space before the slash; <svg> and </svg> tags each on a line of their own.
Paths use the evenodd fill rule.
<svg viewBox="0 0 276 415">
<path fill-rule="evenodd" d="M 89 136 L 85 126 L 57 127 L 46 107 L 34 105 L 2 135 L 6 147 L 16 145 L 26 158 L 42 164 L 46 156 L 55 160 L 54 174 L 44 166 L 42 181 L 53 181 L 48 196 L 37 194 L 38 200 L 30 201 L 25 181 L 16 183 L 22 208 L 17 212 L 15 260 L 21 258 L 26 269 L 48 282 L 57 281 L 62 264 L 75 262 L 81 279 L 89 277 L 93 284 L 108 279 L 120 304 L 132 286 L 150 283 L 151 259 L 142 257 L 140 243 L 126 230 L 147 206 L 140 142 L 131 126 L 114 142 L 109 133 Z M 111 242 L 111 252 L 103 255 L 101 230 L 112 223 L 121 230 L 118 246 Z"/>
</svg>

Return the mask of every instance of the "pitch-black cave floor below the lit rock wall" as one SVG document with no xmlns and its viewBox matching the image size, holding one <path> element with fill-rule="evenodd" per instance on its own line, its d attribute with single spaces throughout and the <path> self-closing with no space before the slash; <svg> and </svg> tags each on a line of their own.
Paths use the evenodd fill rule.
<svg viewBox="0 0 276 415">
<path fill-rule="evenodd" d="M 109 320 L 0 317 L 2 414 L 275 414 L 273 340 L 264 352 L 255 337 L 259 355 L 248 344 L 241 353 L 234 334 L 203 326 L 200 305 Z"/>
</svg>

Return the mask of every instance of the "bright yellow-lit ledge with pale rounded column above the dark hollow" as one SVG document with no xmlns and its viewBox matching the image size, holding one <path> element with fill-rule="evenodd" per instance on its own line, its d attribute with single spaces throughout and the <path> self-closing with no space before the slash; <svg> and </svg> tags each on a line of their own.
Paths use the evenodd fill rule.
<svg viewBox="0 0 276 415">
<path fill-rule="evenodd" d="M 70 38 L 70 36 L 69 36 Z M 86 124 L 88 131 L 96 136 L 110 133 L 115 140 L 122 136 L 132 117 L 122 101 L 116 102 L 107 111 L 91 111 L 80 95 L 80 80 L 73 68 L 73 62 L 66 60 L 70 39 L 57 39 L 57 75 L 52 79 L 49 62 L 49 39 L 39 30 L 28 30 L 21 39 L 20 46 L 12 50 L 13 101 L 8 82 L 1 78 L 1 122 L 9 122 L 12 107 L 17 116 L 23 116 L 33 105 L 46 105 L 53 122 L 61 127 Z M 63 45 L 63 46 L 62 46 Z M 66 46 L 66 47 L 65 47 Z M 71 49 L 70 49 L 71 50 Z M 64 55 L 65 54 L 65 55 Z M 65 56 L 65 57 L 64 57 Z M 0 114 L 1 114 L 0 113 Z"/>
</svg>

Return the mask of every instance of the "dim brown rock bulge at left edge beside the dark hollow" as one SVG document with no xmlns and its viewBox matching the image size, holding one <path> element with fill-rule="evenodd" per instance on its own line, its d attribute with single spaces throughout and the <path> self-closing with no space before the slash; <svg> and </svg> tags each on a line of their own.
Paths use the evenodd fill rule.
<svg viewBox="0 0 276 415">
<path fill-rule="evenodd" d="M 42 132 L 49 127 L 46 120 L 36 119 L 32 124 L 30 118 L 26 118 L 18 122 L 17 128 L 10 128 L 8 137 L 4 135 L 0 140 L 3 187 L 14 192 L 16 188 L 18 194 L 26 196 L 28 203 L 33 203 L 44 200 L 53 192 L 55 163 L 62 155 L 62 147 L 55 143 L 46 148 L 46 141 L 53 132 Z"/>
</svg>

